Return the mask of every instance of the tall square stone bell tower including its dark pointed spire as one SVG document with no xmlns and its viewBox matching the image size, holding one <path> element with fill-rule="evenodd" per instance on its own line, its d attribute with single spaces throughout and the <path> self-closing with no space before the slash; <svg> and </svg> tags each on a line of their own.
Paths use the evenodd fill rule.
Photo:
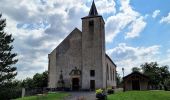
<svg viewBox="0 0 170 100">
<path fill-rule="evenodd" d="M 106 85 L 104 25 L 93 0 L 89 15 L 82 18 L 82 89 L 93 90 Z"/>
</svg>

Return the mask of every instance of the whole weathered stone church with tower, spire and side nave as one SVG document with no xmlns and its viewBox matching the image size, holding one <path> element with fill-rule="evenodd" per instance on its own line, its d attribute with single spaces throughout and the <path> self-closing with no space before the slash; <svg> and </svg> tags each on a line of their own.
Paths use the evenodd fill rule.
<svg viewBox="0 0 170 100">
<path fill-rule="evenodd" d="M 105 53 L 105 22 L 93 1 L 75 28 L 49 55 L 48 87 L 94 90 L 116 87 L 116 65 Z"/>
</svg>

